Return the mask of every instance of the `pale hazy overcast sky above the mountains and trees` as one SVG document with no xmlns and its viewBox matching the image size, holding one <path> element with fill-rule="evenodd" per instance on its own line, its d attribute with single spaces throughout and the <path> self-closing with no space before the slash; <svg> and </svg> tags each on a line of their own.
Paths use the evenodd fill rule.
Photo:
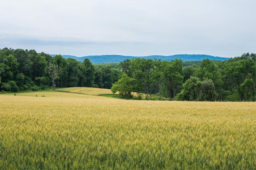
<svg viewBox="0 0 256 170">
<path fill-rule="evenodd" d="M 0 48 L 62 55 L 256 53 L 256 0 L 5 0 Z"/>
</svg>

